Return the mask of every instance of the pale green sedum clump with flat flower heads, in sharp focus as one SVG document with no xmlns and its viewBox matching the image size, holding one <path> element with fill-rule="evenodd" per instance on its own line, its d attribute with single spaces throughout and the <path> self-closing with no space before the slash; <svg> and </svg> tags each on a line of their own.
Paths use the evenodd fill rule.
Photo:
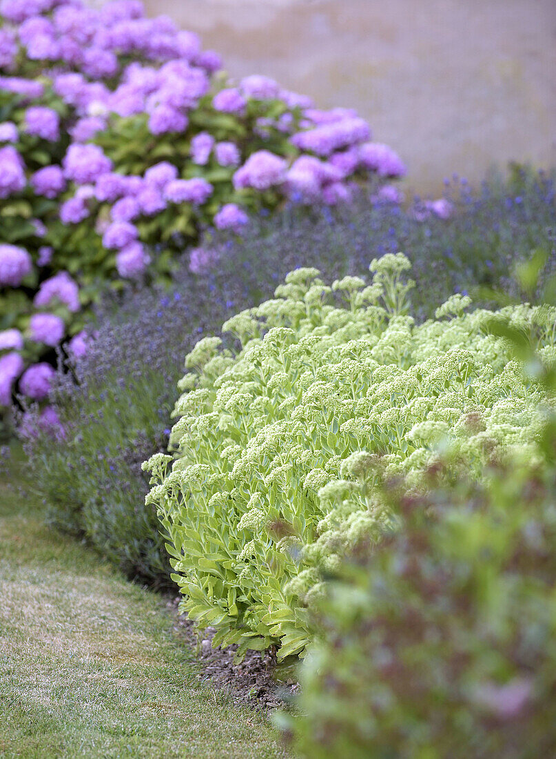
<svg viewBox="0 0 556 759">
<path fill-rule="evenodd" d="M 556 310 L 464 313 L 456 294 L 416 326 L 409 268 L 387 254 L 369 284 L 331 286 L 297 269 L 223 325 L 238 350 L 208 337 L 186 357 L 170 454 L 143 465 L 146 502 L 183 609 L 217 628 L 214 644 L 304 653 L 323 576 L 392 522 L 380 482 L 418 490 L 439 452 L 479 479 L 493 456 L 533 450 L 544 390 L 496 332 L 523 330 L 554 361 Z"/>
</svg>

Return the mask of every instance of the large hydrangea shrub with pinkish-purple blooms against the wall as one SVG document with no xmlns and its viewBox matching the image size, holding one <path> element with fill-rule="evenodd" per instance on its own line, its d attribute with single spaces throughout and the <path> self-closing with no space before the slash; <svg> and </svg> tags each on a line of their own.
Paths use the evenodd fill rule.
<svg viewBox="0 0 556 759">
<path fill-rule="evenodd" d="M 167 278 L 201 229 L 239 232 L 248 210 L 341 203 L 405 172 L 355 112 L 268 77 L 226 80 L 195 34 L 136 0 L 3 0 L 0 24 L 0 330 L 20 330 L 24 364 L 79 334 L 107 282 Z M 60 288 L 33 299 L 60 273 L 79 309 Z M 30 327 L 36 311 L 52 329 Z"/>
</svg>

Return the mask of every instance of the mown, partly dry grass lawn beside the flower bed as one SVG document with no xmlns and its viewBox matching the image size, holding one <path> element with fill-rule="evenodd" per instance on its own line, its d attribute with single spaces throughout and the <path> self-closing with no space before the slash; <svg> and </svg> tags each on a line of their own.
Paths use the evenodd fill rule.
<svg viewBox="0 0 556 759">
<path fill-rule="evenodd" d="M 283 757 L 198 679 L 164 600 L 0 485 L 0 757 Z"/>
</svg>

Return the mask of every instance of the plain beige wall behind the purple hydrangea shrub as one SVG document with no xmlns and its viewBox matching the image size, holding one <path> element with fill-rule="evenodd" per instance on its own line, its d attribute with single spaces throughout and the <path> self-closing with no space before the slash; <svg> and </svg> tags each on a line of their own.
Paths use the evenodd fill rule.
<svg viewBox="0 0 556 759">
<path fill-rule="evenodd" d="M 146 0 L 234 76 L 355 106 L 420 191 L 556 165 L 556 0 Z"/>
</svg>

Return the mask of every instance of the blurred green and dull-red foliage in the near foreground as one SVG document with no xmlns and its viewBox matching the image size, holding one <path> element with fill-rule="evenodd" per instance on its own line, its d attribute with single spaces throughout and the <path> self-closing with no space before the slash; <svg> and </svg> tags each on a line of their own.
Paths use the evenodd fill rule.
<svg viewBox="0 0 556 759">
<path fill-rule="evenodd" d="M 554 442 L 479 482 L 386 489 L 398 529 L 318 603 L 289 723 L 305 756 L 554 754 Z"/>
</svg>

